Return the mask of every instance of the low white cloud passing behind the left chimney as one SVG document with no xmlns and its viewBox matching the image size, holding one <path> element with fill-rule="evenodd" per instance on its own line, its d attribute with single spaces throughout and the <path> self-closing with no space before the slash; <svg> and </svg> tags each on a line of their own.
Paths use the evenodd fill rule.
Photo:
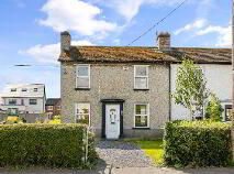
<svg viewBox="0 0 234 174">
<path fill-rule="evenodd" d="M 91 42 L 73 41 L 73 45 L 93 45 Z M 57 63 L 58 56 L 60 54 L 60 43 L 49 44 L 49 45 L 35 45 L 25 51 L 19 51 L 19 54 L 30 56 L 35 58 L 40 63 Z"/>
</svg>

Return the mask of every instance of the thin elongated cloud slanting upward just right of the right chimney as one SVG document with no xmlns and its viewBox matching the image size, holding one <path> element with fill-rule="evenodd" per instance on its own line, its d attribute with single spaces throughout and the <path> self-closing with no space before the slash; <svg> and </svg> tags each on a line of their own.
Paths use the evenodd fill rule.
<svg viewBox="0 0 234 174">
<path fill-rule="evenodd" d="M 190 31 L 190 30 L 193 30 L 193 29 L 201 29 L 201 28 L 205 26 L 205 24 L 207 24 L 207 20 L 199 19 L 199 20 L 196 20 L 192 23 L 185 25 L 181 29 L 178 29 L 177 31 L 174 32 L 174 34 L 178 35 L 178 34 L 186 32 L 186 31 Z"/>
</svg>

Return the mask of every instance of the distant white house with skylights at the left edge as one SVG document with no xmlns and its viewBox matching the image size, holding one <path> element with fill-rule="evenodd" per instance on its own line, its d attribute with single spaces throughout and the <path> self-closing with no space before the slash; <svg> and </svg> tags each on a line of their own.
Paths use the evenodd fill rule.
<svg viewBox="0 0 234 174">
<path fill-rule="evenodd" d="M 0 109 L 9 116 L 22 113 L 44 113 L 45 112 L 45 85 L 8 85 L 2 94 L 3 104 Z"/>
</svg>

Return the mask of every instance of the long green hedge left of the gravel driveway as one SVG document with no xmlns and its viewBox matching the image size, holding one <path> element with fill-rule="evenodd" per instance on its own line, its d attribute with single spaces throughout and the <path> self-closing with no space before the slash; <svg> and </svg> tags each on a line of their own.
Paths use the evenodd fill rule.
<svg viewBox="0 0 234 174">
<path fill-rule="evenodd" d="M 93 134 L 89 133 L 85 162 L 86 130 L 83 124 L 0 126 L 0 166 L 89 167 L 97 153 Z"/>
</svg>

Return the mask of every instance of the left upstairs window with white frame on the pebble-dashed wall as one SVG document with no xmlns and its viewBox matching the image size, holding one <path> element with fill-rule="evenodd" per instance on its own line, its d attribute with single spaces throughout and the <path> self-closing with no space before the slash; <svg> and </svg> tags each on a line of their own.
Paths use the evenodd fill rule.
<svg viewBox="0 0 234 174">
<path fill-rule="evenodd" d="M 90 66 L 76 66 L 76 88 L 90 88 Z"/>
</svg>

